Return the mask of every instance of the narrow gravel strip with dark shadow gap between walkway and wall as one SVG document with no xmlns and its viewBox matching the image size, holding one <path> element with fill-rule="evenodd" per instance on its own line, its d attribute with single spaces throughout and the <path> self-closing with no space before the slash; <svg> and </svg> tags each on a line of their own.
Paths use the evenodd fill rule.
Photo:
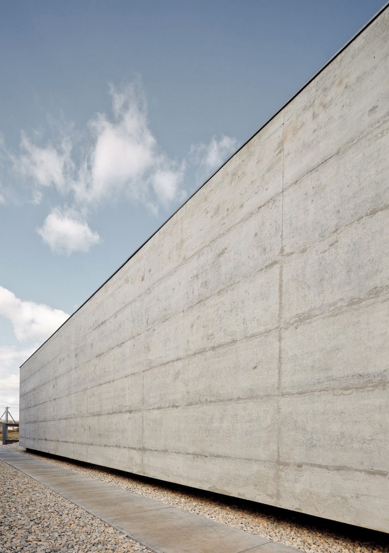
<svg viewBox="0 0 389 553">
<path fill-rule="evenodd" d="M 5 447 L 307 553 L 389 553 L 385 536 L 380 533 L 218 494 L 197 492 L 114 469 L 26 452 L 18 444 Z"/>
</svg>

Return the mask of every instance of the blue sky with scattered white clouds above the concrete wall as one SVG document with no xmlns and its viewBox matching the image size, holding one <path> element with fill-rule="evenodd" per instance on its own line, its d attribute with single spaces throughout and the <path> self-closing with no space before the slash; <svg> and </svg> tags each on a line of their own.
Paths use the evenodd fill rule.
<svg viewBox="0 0 389 553">
<path fill-rule="evenodd" d="M 383 4 L 2 4 L 2 410 L 29 354 Z"/>
</svg>

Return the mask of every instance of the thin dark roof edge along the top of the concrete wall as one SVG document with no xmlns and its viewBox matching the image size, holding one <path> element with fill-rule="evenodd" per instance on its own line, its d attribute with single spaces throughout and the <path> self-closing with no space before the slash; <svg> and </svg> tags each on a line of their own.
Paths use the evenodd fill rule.
<svg viewBox="0 0 389 553">
<path fill-rule="evenodd" d="M 348 48 L 348 46 L 349 46 L 352 42 L 354 42 L 354 40 L 355 40 L 356 38 L 358 38 L 358 36 L 359 36 L 361 33 L 364 32 L 364 30 L 367 29 L 367 27 L 369 27 L 369 26 L 375 21 L 375 19 L 377 19 L 377 18 L 381 15 L 382 12 L 385 12 L 385 10 L 386 10 L 388 7 L 389 7 L 389 0 L 388 0 L 388 2 L 385 3 L 384 6 L 382 6 L 381 9 L 379 9 L 379 11 L 378 11 L 375 15 L 373 15 L 373 17 L 372 17 L 371 19 L 369 19 L 369 21 L 368 21 L 363 27 L 361 27 L 361 29 L 360 29 L 354 36 L 352 36 L 352 37 L 350 38 L 350 40 L 348 40 L 348 42 L 346 42 L 346 44 L 345 44 L 344 46 L 342 46 L 342 47 L 340 48 L 340 50 L 338 50 L 338 51 L 332 56 L 332 58 L 330 58 L 330 59 L 327 61 L 327 63 L 325 63 L 322 67 L 320 67 L 320 69 L 311 77 L 311 79 L 309 79 L 301 88 L 299 88 L 298 91 L 295 92 L 295 94 L 293 94 L 293 96 L 292 96 L 292 97 L 291 97 L 291 98 L 290 98 L 280 109 L 278 109 L 269 119 L 267 119 L 266 123 L 264 123 L 264 124 L 263 124 L 263 125 L 262 125 L 262 126 L 261 126 L 261 127 L 260 127 L 260 128 L 259 128 L 259 129 L 248 139 L 248 140 L 246 140 L 246 142 L 245 142 L 244 144 L 242 144 L 242 145 L 236 150 L 236 152 L 234 152 L 232 155 L 230 155 L 229 158 L 228 158 L 227 160 L 225 160 L 225 161 L 222 163 L 222 165 L 220 165 L 220 167 L 219 167 L 218 169 L 216 169 L 216 170 L 214 171 L 214 173 L 212 173 L 212 175 L 209 176 L 208 179 L 207 179 L 206 181 L 204 181 L 203 184 L 202 184 L 201 186 L 199 186 L 198 189 L 197 189 L 196 191 L 194 191 L 193 194 L 187 198 L 187 200 L 185 200 L 185 202 L 183 202 L 183 204 L 180 205 L 180 207 L 177 207 L 176 211 L 174 211 L 174 213 L 172 213 L 172 214 L 166 219 L 166 221 L 164 221 L 164 222 L 162 223 L 162 225 L 161 225 L 160 227 L 158 227 L 158 228 L 156 229 L 156 231 L 154 231 L 153 234 L 151 234 L 151 235 L 149 236 L 149 238 L 147 238 L 147 239 L 143 242 L 143 244 L 141 244 L 141 246 L 139 246 L 139 248 L 136 249 L 135 252 L 132 253 L 132 254 L 130 255 L 130 257 L 129 257 L 128 259 L 126 259 L 125 262 L 122 263 L 122 265 L 120 265 L 120 267 L 119 267 L 118 269 L 115 270 L 114 273 L 112 273 L 111 276 L 109 276 L 109 277 L 107 278 L 107 280 L 104 280 L 103 284 L 102 284 L 101 286 L 99 286 L 99 287 L 97 288 L 97 290 L 95 290 L 95 291 L 93 292 L 93 294 L 91 294 L 91 295 L 89 296 L 89 298 L 86 299 L 86 300 L 80 305 L 80 307 L 78 307 L 78 308 L 76 309 L 76 311 L 73 311 L 73 313 L 66 319 L 66 321 L 64 321 L 64 322 L 62 323 L 62 325 L 59 326 L 59 327 L 57 328 L 57 330 L 54 331 L 54 332 L 52 333 L 52 335 L 49 336 L 49 338 L 47 338 L 47 340 L 45 340 L 45 341 L 39 346 L 39 348 L 35 349 L 34 353 L 31 353 L 30 357 L 28 357 L 28 358 L 24 361 L 24 363 L 27 363 L 27 361 L 28 361 L 33 355 L 35 355 L 35 353 L 36 353 L 42 346 L 44 346 L 45 343 L 48 342 L 48 341 L 50 340 L 50 338 L 51 338 L 52 336 L 54 336 L 55 333 L 58 332 L 58 331 L 60 330 L 60 328 L 61 328 L 62 326 L 64 326 L 64 325 L 67 323 L 67 321 L 69 321 L 69 319 L 71 319 L 71 317 L 72 317 L 73 315 L 75 315 L 75 314 L 77 313 L 77 311 L 79 311 L 79 310 L 81 309 L 81 307 L 83 307 L 91 298 L 93 298 L 94 294 L 96 294 L 101 288 L 103 288 L 103 286 L 106 285 L 107 282 L 108 282 L 109 280 L 111 280 L 112 277 L 113 277 L 116 273 L 118 273 L 119 270 L 122 269 L 122 268 L 124 267 L 124 265 L 125 265 L 126 263 L 128 263 L 129 260 L 130 260 L 131 258 L 133 258 L 134 255 L 135 255 L 136 253 L 138 253 L 139 250 L 140 250 L 141 248 L 143 248 L 143 246 L 145 246 L 145 244 L 146 244 L 147 242 L 149 242 L 149 240 L 151 240 L 151 238 L 153 238 L 154 234 L 156 234 L 157 232 L 159 232 L 160 229 L 161 229 L 162 227 L 164 227 L 164 226 L 166 225 L 166 223 L 169 222 L 170 219 L 171 219 L 172 217 L 174 217 L 174 216 L 176 215 L 176 213 L 177 213 L 178 211 L 180 211 L 180 209 L 181 209 L 183 206 L 185 206 L 185 204 L 186 204 L 189 200 L 191 200 L 192 197 L 193 197 L 194 195 L 196 195 L 197 192 L 198 192 L 199 190 L 201 190 L 202 187 L 203 187 L 204 185 L 206 185 L 207 182 L 208 182 L 209 180 L 211 180 L 211 179 L 214 177 L 214 175 L 215 175 L 216 173 L 218 173 L 218 171 L 220 171 L 220 169 L 222 169 L 222 167 L 224 167 L 224 165 L 227 164 L 227 163 L 229 162 L 230 159 L 232 159 L 232 158 L 234 157 L 234 155 L 236 155 L 238 152 L 240 152 L 240 150 L 241 150 L 242 148 L 244 148 L 245 145 L 248 144 L 248 143 L 250 142 L 250 140 L 252 140 L 259 132 L 261 132 L 262 129 L 263 129 L 264 127 L 266 127 L 266 125 L 269 124 L 270 121 L 272 121 L 272 119 L 274 119 L 274 118 L 278 115 L 278 113 L 280 113 L 283 109 L 285 109 L 286 106 L 287 106 L 288 104 L 290 104 L 290 103 L 296 98 L 296 96 L 298 96 L 299 93 L 302 92 L 302 91 L 304 90 L 304 88 L 306 88 L 309 84 L 311 84 L 311 82 L 312 82 L 314 79 L 316 79 L 316 77 L 317 77 L 318 75 L 320 75 L 320 73 L 321 73 L 322 71 L 324 71 L 324 69 L 325 69 L 326 67 L 328 67 L 328 65 L 329 65 L 330 63 L 332 63 L 336 58 L 338 58 L 338 56 L 339 56 L 346 48 Z M 20 365 L 20 368 L 23 367 L 24 363 L 22 363 L 22 364 Z"/>
</svg>

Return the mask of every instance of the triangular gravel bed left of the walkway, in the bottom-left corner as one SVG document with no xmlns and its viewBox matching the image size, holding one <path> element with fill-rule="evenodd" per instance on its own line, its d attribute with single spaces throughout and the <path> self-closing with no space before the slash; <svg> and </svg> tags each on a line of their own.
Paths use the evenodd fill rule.
<svg viewBox="0 0 389 553">
<path fill-rule="evenodd" d="M 0 483 L 1 553 L 152 553 L 4 461 Z"/>
</svg>

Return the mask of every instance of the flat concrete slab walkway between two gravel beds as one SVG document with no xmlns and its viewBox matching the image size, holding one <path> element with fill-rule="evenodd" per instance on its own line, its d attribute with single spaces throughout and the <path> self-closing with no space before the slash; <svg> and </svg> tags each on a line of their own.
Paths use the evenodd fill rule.
<svg viewBox="0 0 389 553">
<path fill-rule="evenodd" d="M 4 447 L 0 459 L 156 553 L 297 551 Z"/>
</svg>

